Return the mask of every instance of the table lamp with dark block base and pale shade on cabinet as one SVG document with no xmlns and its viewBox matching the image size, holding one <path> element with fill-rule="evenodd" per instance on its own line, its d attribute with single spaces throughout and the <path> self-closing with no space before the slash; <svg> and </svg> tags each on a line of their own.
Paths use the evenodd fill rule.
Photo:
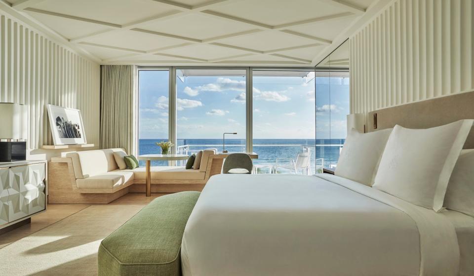
<svg viewBox="0 0 474 276">
<path fill-rule="evenodd" d="M 27 116 L 24 104 L 0 103 L 0 162 L 26 160 Z"/>
</svg>

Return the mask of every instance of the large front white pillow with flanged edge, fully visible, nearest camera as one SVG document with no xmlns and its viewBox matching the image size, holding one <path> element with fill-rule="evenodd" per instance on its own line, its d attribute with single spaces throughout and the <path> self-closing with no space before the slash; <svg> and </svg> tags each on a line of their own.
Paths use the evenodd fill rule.
<svg viewBox="0 0 474 276">
<path fill-rule="evenodd" d="M 431 129 L 395 126 L 373 187 L 418 206 L 440 211 L 449 177 L 474 120 Z"/>
</svg>

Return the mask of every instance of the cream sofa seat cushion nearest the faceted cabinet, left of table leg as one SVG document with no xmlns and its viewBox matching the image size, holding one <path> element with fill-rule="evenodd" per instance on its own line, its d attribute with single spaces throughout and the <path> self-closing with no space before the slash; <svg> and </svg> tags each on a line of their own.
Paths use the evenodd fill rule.
<svg viewBox="0 0 474 276">
<path fill-rule="evenodd" d="M 113 171 L 77 179 L 76 183 L 79 189 L 112 189 L 133 181 L 133 179 L 132 172 Z"/>
</svg>

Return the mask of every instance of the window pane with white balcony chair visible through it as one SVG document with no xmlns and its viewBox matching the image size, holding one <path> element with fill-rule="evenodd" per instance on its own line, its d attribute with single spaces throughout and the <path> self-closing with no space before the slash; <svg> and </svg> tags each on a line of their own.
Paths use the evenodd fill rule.
<svg viewBox="0 0 474 276">
<path fill-rule="evenodd" d="M 259 173 L 316 171 L 313 71 L 253 70 L 253 151 Z"/>
</svg>

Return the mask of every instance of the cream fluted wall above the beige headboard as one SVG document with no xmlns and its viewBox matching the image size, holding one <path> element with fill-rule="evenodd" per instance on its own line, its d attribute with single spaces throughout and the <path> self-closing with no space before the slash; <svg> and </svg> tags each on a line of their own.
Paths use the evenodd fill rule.
<svg viewBox="0 0 474 276">
<path fill-rule="evenodd" d="M 474 90 L 472 0 L 395 0 L 350 37 L 351 113 Z"/>
</svg>

